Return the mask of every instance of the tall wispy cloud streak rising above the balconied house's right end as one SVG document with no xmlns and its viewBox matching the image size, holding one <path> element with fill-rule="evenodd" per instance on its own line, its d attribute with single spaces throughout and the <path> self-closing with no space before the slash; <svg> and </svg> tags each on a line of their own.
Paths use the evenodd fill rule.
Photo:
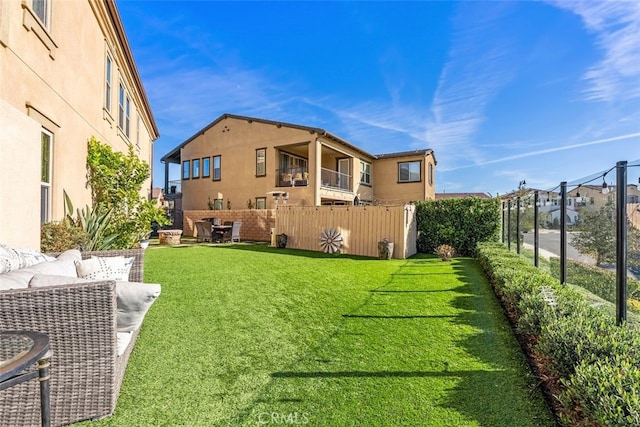
<svg viewBox="0 0 640 427">
<path fill-rule="evenodd" d="M 507 6 L 508 7 L 508 6 Z M 445 163 L 482 159 L 473 144 L 487 105 L 510 80 L 509 42 L 493 34 L 504 4 L 463 2 L 454 20 L 449 59 L 438 81 L 426 139 Z"/>
</svg>

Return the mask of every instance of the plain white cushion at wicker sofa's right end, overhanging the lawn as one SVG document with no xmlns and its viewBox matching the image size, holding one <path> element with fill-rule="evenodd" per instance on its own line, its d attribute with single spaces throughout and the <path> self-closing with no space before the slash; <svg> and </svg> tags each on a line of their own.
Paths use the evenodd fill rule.
<svg viewBox="0 0 640 427">
<path fill-rule="evenodd" d="M 160 290 L 155 283 L 116 282 L 118 332 L 138 329 Z"/>
</svg>

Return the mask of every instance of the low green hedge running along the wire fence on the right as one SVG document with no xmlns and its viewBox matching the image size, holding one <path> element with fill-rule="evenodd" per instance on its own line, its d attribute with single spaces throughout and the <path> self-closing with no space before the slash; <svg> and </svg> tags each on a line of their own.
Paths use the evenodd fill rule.
<svg viewBox="0 0 640 427">
<path fill-rule="evenodd" d="M 640 425 L 640 331 L 615 325 L 502 244 L 479 244 L 478 260 L 517 331 L 536 343 L 536 359 L 559 377 L 563 424 Z M 597 275 L 593 282 L 605 279 Z"/>
</svg>

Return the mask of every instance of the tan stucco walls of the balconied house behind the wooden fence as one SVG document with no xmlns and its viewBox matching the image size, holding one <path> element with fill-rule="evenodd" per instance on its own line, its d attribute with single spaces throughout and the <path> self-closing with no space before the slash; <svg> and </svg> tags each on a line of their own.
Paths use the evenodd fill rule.
<svg viewBox="0 0 640 427">
<path fill-rule="evenodd" d="M 266 148 L 266 176 L 257 177 L 256 149 Z M 308 159 L 309 185 L 278 187 L 279 151 Z M 192 162 L 211 159 L 209 177 L 182 180 L 182 202 L 185 210 L 207 209 L 209 199 L 223 199 L 223 209 L 231 201 L 232 209 L 244 209 L 247 201 L 266 197 L 267 209 L 275 207 L 272 191 L 286 191 L 292 206 L 317 206 L 325 200 L 351 204 L 356 194 L 360 200 L 383 204 L 402 204 L 414 200 L 433 199 L 435 182 L 429 182 L 428 165 L 435 168 L 431 152 L 375 159 L 356 148 L 320 135 L 309 129 L 299 129 L 278 123 L 257 121 L 245 117 L 223 116 L 200 134 L 195 135 L 181 149 L 181 160 Z M 213 157 L 221 156 L 221 179 L 213 180 Z M 316 159 L 318 159 L 316 161 Z M 349 159 L 352 177 L 350 191 L 321 188 L 321 168 L 336 170 L 340 159 Z M 422 180 L 417 183 L 398 183 L 398 162 L 422 162 Z M 371 184 L 360 184 L 360 162 L 371 164 Z"/>
</svg>

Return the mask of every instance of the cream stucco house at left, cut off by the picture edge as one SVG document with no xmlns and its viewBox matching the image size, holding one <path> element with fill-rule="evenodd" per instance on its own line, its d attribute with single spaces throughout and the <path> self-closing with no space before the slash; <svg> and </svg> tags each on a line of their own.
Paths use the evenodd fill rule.
<svg viewBox="0 0 640 427">
<path fill-rule="evenodd" d="M 0 0 L 0 75 L 0 242 L 39 248 L 91 136 L 152 164 L 159 133 L 113 0 Z"/>
</svg>

